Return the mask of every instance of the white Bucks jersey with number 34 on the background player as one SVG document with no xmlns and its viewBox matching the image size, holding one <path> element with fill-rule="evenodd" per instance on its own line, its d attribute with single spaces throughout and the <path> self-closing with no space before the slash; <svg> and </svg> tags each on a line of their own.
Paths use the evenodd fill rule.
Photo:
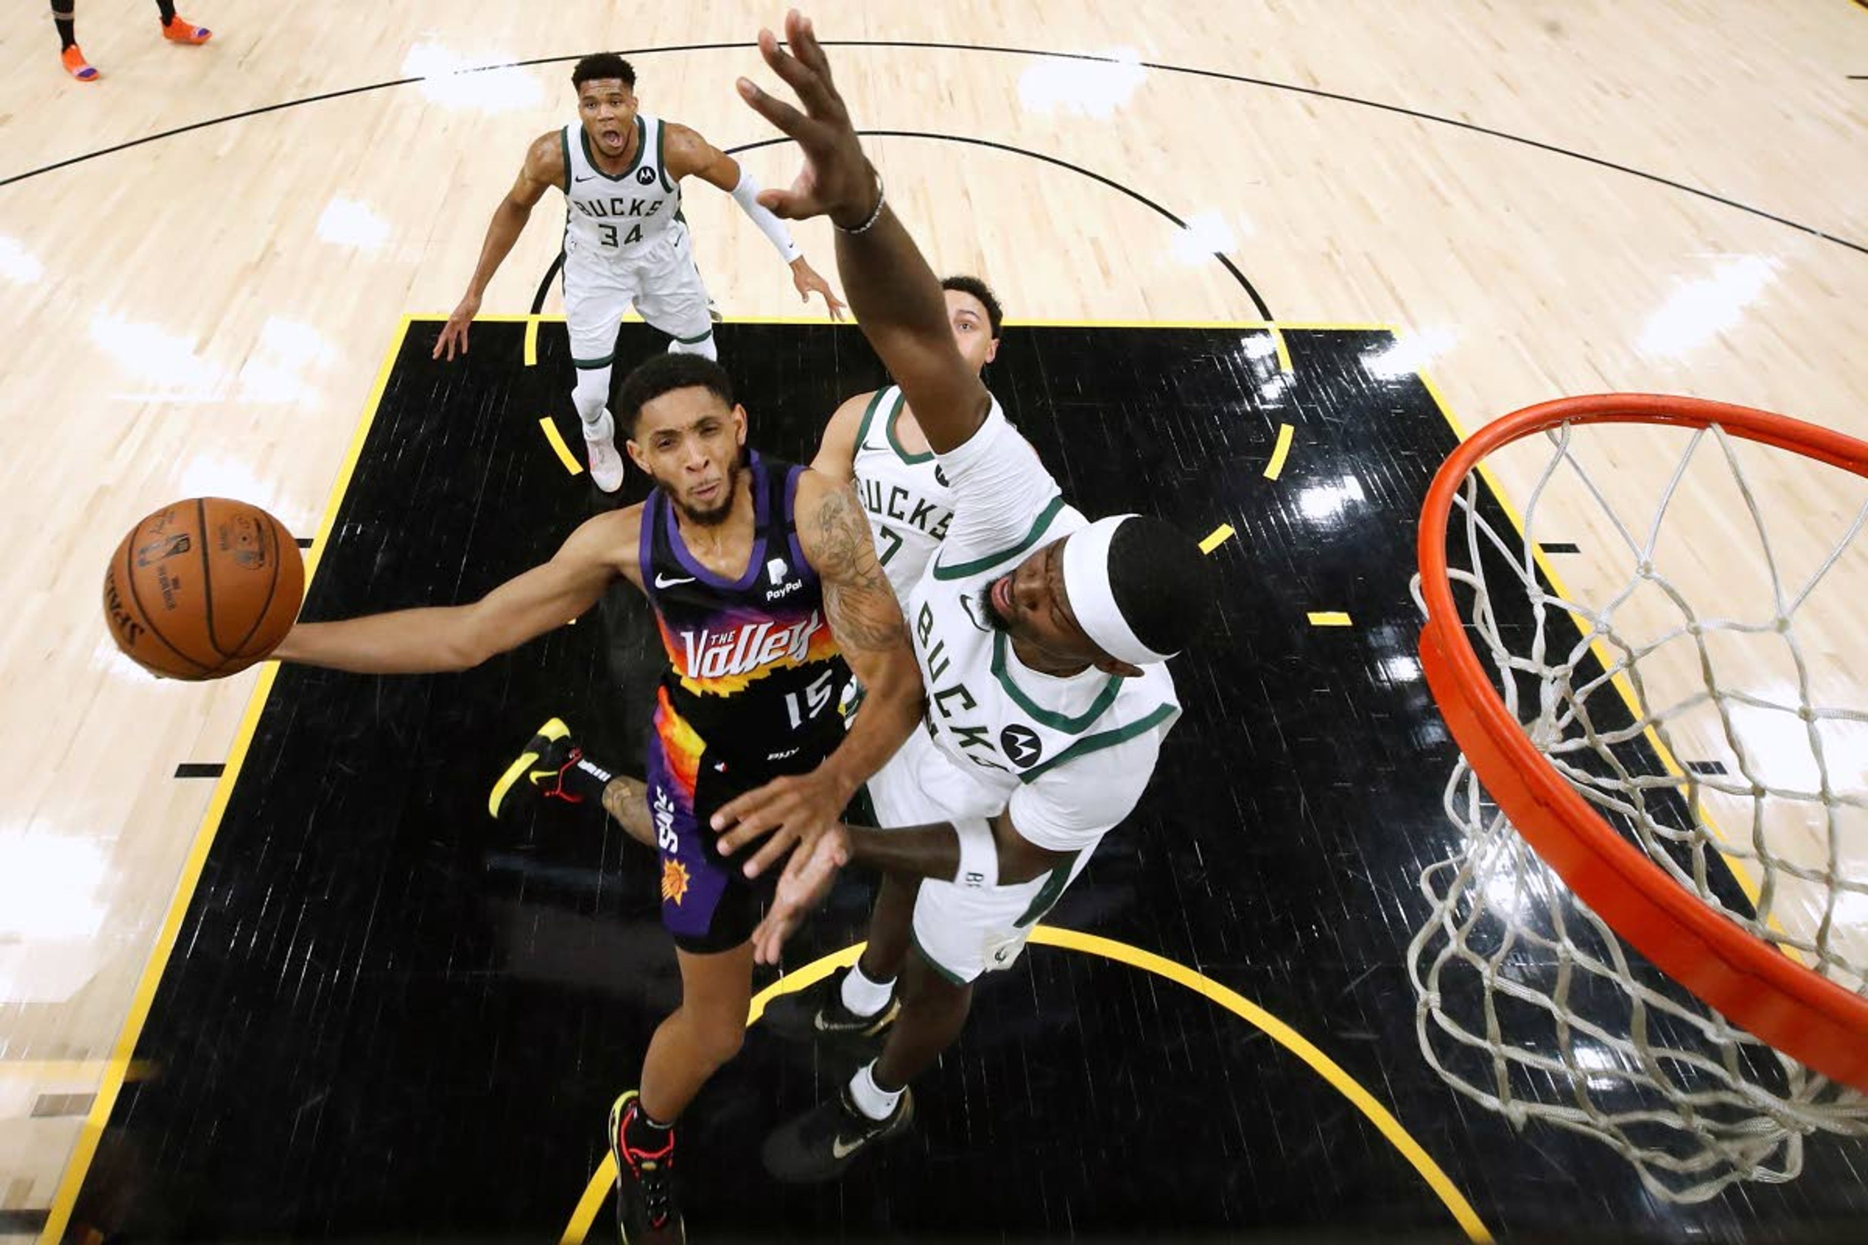
<svg viewBox="0 0 1868 1245">
<path fill-rule="evenodd" d="M 682 211 L 680 185 L 661 162 L 663 123 L 635 114 L 635 162 L 615 177 L 596 166 L 583 125 L 559 133 L 564 147 L 564 254 L 630 261 L 654 246 Z"/>
</svg>

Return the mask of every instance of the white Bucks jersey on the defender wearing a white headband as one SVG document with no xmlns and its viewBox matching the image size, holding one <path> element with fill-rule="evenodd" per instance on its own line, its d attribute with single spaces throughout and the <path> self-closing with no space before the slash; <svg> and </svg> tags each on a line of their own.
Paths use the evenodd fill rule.
<svg viewBox="0 0 1868 1245">
<path fill-rule="evenodd" d="M 928 692 L 927 730 L 941 752 L 1005 801 L 1020 784 L 1070 782 L 1072 767 L 1108 763 L 1100 752 L 1147 732 L 1158 743 L 1181 715 L 1166 664 L 1151 664 L 1134 679 L 1095 668 L 1070 678 L 1037 674 L 1012 653 L 1011 636 L 988 622 L 983 597 L 992 582 L 1033 549 L 1082 526 L 1083 515 L 1055 498 L 1012 549 L 958 566 L 943 566 L 951 551 L 936 556 L 908 603 Z M 1134 795 L 1147 778 L 1134 775 Z M 1126 806 L 1115 819 L 1121 816 Z"/>
</svg>

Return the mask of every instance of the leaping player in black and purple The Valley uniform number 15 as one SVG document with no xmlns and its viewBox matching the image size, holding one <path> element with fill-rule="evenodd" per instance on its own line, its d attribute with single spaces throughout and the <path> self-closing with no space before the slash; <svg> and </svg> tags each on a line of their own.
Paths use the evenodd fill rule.
<svg viewBox="0 0 1868 1245">
<path fill-rule="evenodd" d="M 719 364 L 659 355 L 616 386 L 630 455 L 656 478 L 641 506 L 577 528 L 555 558 L 482 601 L 301 623 L 284 661 L 396 674 L 460 670 L 577 618 L 618 577 L 656 609 L 669 674 L 656 692 L 648 784 L 585 758 L 551 720 L 493 788 L 603 799 L 661 857 L 661 915 L 682 1004 L 611 1111 L 628 1239 L 680 1241 L 674 1118 L 745 1034 L 753 946 L 770 881 L 714 840 L 715 812 L 773 829 L 773 853 L 831 827 L 915 728 L 923 694 L 900 607 L 856 495 L 745 452 L 745 409 Z M 842 730 L 844 661 L 869 687 Z M 646 806 L 644 806 L 646 797 Z"/>
</svg>

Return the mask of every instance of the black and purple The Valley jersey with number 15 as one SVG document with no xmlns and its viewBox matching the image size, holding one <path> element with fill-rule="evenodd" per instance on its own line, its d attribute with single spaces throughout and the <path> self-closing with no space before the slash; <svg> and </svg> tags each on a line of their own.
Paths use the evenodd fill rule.
<svg viewBox="0 0 1868 1245">
<path fill-rule="evenodd" d="M 702 748 L 757 771 L 801 752 L 814 763 L 842 735 L 837 692 L 848 666 L 824 616 L 824 588 L 798 545 L 794 506 L 805 469 L 755 452 L 745 470 L 753 554 L 738 581 L 687 553 L 659 487 L 643 504 L 643 592 L 669 655 L 656 734 L 689 790 Z"/>
</svg>

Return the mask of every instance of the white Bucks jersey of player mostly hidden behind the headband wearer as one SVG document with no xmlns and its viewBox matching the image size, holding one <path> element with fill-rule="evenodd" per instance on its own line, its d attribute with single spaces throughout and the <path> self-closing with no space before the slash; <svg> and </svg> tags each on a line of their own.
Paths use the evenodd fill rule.
<svg viewBox="0 0 1868 1245">
<path fill-rule="evenodd" d="M 876 536 L 876 558 L 897 601 L 906 601 L 953 523 L 953 489 L 934 452 L 908 454 L 895 433 L 902 390 L 876 390 L 856 431 L 856 491 Z"/>
</svg>

